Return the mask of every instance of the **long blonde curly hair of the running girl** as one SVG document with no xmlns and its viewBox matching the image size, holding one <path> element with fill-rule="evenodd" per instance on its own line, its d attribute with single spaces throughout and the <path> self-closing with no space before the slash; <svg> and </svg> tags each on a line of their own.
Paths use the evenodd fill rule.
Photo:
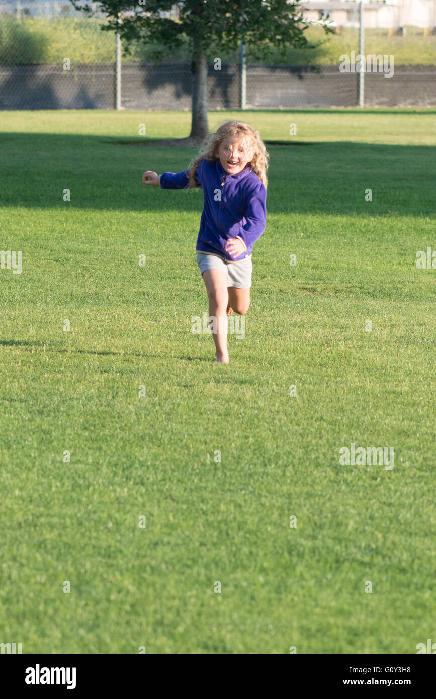
<svg viewBox="0 0 436 699">
<path fill-rule="evenodd" d="M 259 131 L 252 129 L 246 122 L 231 120 L 224 122 L 213 134 L 208 134 L 200 147 L 200 152 L 189 168 L 189 184 L 188 187 L 198 187 L 195 181 L 195 173 L 198 164 L 202 160 L 214 162 L 218 158 L 218 148 L 224 138 L 230 136 L 240 136 L 242 143 L 252 150 L 253 157 L 249 161 L 249 167 L 256 173 L 259 180 L 263 182 L 264 187 L 268 187 L 268 178 L 266 171 L 268 170 L 269 155 L 265 147 L 265 143 L 261 139 Z"/>
</svg>

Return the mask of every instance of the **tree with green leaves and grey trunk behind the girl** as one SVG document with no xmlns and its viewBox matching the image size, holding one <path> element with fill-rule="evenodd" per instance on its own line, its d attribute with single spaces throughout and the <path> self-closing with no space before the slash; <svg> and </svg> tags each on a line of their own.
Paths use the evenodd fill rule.
<svg viewBox="0 0 436 699">
<path fill-rule="evenodd" d="M 78 5 L 76 9 L 89 15 L 92 6 Z M 194 74 L 192 91 L 192 122 L 190 138 L 201 140 L 208 134 L 207 78 L 210 48 L 227 48 L 245 43 L 247 50 L 256 47 L 265 56 L 270 46 L 286 50 L 309 45 L 304 31 L 309 26 L 303 19 L 300 0 L 101 0 L 99 12 L 107 17 L 101 26 L 105 31 L 119 31 L 122 40 L 159 41 L 168 50 L 182 45 L 189 38 L 191 70 Z M 177 7 L 177 17 L 168 14 Z M 326 17 L 320 23 L 331 31 Z"/>
</svg>

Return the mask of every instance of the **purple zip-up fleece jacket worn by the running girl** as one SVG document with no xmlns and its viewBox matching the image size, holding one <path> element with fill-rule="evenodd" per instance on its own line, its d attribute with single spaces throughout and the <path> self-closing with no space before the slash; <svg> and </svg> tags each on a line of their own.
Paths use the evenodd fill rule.
<svg viewBox="0 0 436 699">
<path fill-rule="evenodd" d="M 189 170 L 163 173 L 162 189 L 185 189 Z M 229 175 L 216 159 L 201 160 L 196 170 L 196 182 L 203 189 L 204 208 L 196 250 L 215 254 L 228 262 L 239 262 L 252 254 L 266 224 L 266 189 L 251 168 Z M 221 198 L 219 198 L 219 194 Z M 229 238 L 240 238 L 246 250 L 232 257 L 226 250 Z"/>
</svg>

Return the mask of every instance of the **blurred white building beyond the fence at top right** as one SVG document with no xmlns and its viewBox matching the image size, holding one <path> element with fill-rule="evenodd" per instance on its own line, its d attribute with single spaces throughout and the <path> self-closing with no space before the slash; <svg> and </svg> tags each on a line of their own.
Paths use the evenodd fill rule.
<svg viewBox="0 0 436 699">
<path fill-rule="evenodd" d="M 317 20 L 329 13 L 330 20 L 340 27 L 358 25 L 358 5 L 354 0 L 305 0 L 303 14 Z M 365 27 L 436 27 L 436 0 L 364 0 Z"/>
</svg>

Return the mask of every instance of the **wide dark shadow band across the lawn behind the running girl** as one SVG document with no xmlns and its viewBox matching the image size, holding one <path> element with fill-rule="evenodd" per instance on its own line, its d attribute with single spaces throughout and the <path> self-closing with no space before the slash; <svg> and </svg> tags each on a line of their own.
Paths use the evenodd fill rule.
<svg viewBox="0 0 436 699">
<path fill-rule="evenodd" d="M 356 137 L 361 133 L 356 127 Z M 354 141 L 310 142 L 310 148 L 270 145 L 268 213 L 326 213 L 379 217 L 434 215 L 436 146 Z M 301 144 L 303 145 L 303 144 Z M 201 191 L 167 191 L 143 185 L 147 169 L 189 167 L 196 149 L 126 147 L 119 137 L 79 134 L 0 134 L 0 206 L 65 215 L 71 210 L 201 212 Z M 24 157 L 25 155 L 25 157 Z M 365 189 L 372 201 L 365 201 Z M 71 201 L 64 201 L 64 189 Z M 146 219 L 145 219 L 146 222 Z"/>
</svg>

